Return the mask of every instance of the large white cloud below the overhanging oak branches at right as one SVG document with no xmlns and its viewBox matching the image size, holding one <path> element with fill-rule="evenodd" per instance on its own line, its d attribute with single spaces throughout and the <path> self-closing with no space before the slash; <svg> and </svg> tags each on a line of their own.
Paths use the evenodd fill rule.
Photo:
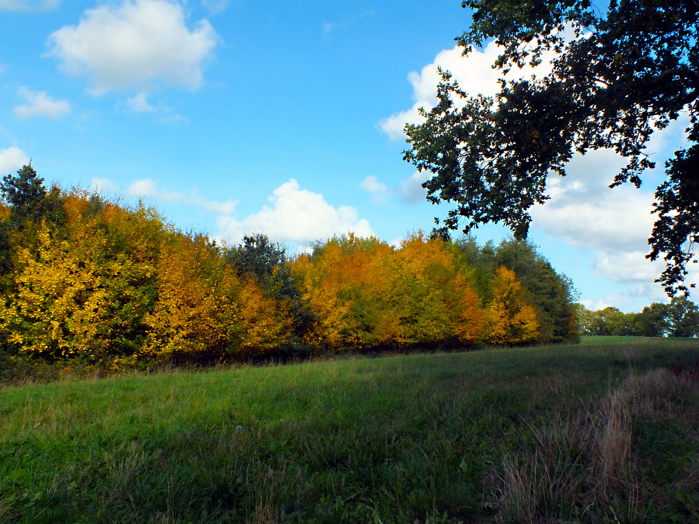
<svg viewBox="0 0 699 524">
<path fill-rule="evenodd" d="M 680 138 L 678 129 L 684 129 L 687 123 L 688 117 L 683 115 L 654 134 L 647 152 L 666 155 L 668 150 L 682 147 L 685 138 Z M 551 199 L 531 210 L 533 229 L 561 238 L 568 245 L 592 249 L 593 272 L 631 286 L 625 293 L 595 302 L 595 307 L 602 303 L 625 307 L 635 298 L 657 301 L 664 296 L 654 279 L 661 274 L 665 263 L 645 258 L 650 251 L 647 240 L 656 221 L 652 213 L 652 186 L 608 187 L 625 163 L 612 150 L 591 151 L 584 156 L 575 154 L 566 166 L 566 177 L 549 177 L 547 190 Z M 647 178 L 657 177 L 658 171 L 648 172 Z M 696 282 L 699 276 L 693 269 L 689 267 L 689 282 Z"/>
</svg>

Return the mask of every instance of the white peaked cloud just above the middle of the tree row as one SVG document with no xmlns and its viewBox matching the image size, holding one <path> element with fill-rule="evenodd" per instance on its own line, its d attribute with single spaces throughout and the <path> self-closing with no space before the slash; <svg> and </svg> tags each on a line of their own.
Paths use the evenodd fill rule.
<svg viewBox="0 0 699 524">
<path fill-rule="evenodd" d="M 349 205 L 333 207 L 322 194 L 299 189 L 293 178 L 275 189 L 269 197 L 270 206 L 242 221 L 234 217 L 219 217 L 223 238 L 238 242 L 245 233 L 265 233 L 275 242 L 308 242 L 352 231 L 360 236 L 373 235 L 366 219 L 358 219 Z"/>
</svg>

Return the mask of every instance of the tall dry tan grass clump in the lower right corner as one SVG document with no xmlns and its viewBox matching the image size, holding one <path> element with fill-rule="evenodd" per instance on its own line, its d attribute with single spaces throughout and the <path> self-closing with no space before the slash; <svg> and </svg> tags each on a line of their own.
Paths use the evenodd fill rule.
<svg viewBox="0 0 699 524">
<path fill-rule="evenodd" d="M 505 456 L 487 479 L 496 495 L 495 520 L 529 524 L 646 520 L 654 504 L 668 501 L 647 485 L 640 472 L 637 426 L 644 421 L 698 418 L 698 406 L 696 374 L 677 369 L 632 372 L 593 409 L 580 409 L 572 416 L 556 412 L 545 425 L 531 425 L 531 442 Z M 686 413 L 689 409 L 695 412 Z M 684 469 L 670 490 L 699 494 L 699 460 Z M 699 518 L 693 504 L 685 505 Z"/>
</svg>

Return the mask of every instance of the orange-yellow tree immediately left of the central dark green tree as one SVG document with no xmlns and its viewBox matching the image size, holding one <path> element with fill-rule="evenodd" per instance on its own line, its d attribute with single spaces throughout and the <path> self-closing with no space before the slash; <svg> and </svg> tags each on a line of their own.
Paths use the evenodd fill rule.
<svg viewBox="0 0 699 524">
<path fill-rule="evenodd" d="M 152 356 L 225 358 L 278 349 L 290 319 L 252 279 L 241 282 L 206 238 L 171 235 L 159 256 L 157 301 L 146 323 Z"/>
</svg>

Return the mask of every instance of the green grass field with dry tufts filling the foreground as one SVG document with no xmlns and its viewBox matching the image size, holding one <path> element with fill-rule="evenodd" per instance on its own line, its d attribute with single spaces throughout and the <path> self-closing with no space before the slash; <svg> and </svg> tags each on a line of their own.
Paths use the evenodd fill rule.
<svg viewBox="0 0 699 524">
<path fill-rule="evenodd" d="M 586 337 L 6 387 L 0 522 L 699 522 L 695 361 Z"/>
</svg>

